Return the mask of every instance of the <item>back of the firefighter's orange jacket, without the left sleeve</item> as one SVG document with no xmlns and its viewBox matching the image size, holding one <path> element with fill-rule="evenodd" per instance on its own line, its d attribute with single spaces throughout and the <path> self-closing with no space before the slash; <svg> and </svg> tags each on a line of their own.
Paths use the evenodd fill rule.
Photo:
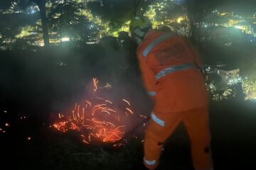
<svg viewBox="0 0 256 170">
<path fill-rule="evenodd" d="M 170 36 L 146 56 L 146 63 L 156 75 L 156 107 L 166 111 L 188 111 L 207 106 L 206 86 L 198 69 L 198 56 L 186 40 L 172 33 L 149 33 L 152 37 Z M 149 47 L 152 40 L 144 40 Z M 142 47 L 142 49 L 144 49 Z"/>
</svg>

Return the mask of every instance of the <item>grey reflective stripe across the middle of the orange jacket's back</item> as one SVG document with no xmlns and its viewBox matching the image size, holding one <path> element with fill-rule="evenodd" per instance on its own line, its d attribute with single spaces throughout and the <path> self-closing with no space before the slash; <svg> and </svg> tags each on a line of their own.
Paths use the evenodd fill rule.
<svg viewBox="0 0 256 170">
<path fill-rule="evenodd" d="M 170 74 L 170 73 L 185 70 L 185 69 L 192 69 L 192 68 L 196 68 L 195 64 L 193 63 L 177 65 L 177 66 L 173 66 L 173 67 L 169 67 L 161 70 L 158 74 L 156 74 L 155 77 L 156 79 L 160 79 L 161 77 L 164 77 L 166 74 Z"/>
</svg>

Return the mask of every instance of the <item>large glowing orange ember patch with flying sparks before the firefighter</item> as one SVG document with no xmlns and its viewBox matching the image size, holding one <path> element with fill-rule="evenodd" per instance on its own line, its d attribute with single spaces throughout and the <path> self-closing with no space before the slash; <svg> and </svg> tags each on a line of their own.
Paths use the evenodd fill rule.
<svg viewBox="0 0 256 170">
<path fill-rule="evenodd" d="M 75 103 L 70 115 L 65 116 L 58 113 L 59 122 L 53 125 L 61 132 L 76 130 L 80 132 L 82 142 L 90 144 L 92 142 L 117 142 L 124 137 L 125 120 L 128 116 L 134 115 L 129 101 L 122 99 L 126 105 L 124 108 L 117 108 L 114 102 L 105 98 L 97 97 L 98 80 L 92 79 L 93 93 L 90 101 L 85 100 Z M 107 87 L 110 87 L 108 84 Z M 143 117 L 142 115 L 140 115 Z M 139 118 L 139 116 L 138 116 Z M 145 118 L 145 117 L 143 117 Z M 118 147 L 122 144 L 114 144 Z"/>
</svg>

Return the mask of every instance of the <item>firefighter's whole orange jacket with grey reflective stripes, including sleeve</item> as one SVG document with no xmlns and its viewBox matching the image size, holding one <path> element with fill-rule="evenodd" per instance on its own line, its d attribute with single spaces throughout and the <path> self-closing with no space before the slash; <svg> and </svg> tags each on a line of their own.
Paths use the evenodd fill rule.
<svg viewBox="0 0 256 170">
<path fill-rule="evenodd" d="M 206 106 L 201 62 L 185 39 L 171 32 L 151 30 L 137 48 L 137 56 L 146 90 L 150 96 L 156 94 L 156 109 L 184 111 Z M 179 68 L 184 65 L 188 68 Z M 169 68 L 180 70 L 166 73 Z"/>
</svg>

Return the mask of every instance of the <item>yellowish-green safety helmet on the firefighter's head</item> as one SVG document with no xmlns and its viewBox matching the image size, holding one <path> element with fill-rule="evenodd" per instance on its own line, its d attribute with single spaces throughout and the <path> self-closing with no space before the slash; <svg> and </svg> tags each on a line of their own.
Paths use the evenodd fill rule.
<svg viewBox="0 0 256 170">
<path fill-rule="evenodd" d="M 136 16 L 129 24 L 129 28 L 134 38 L 143 40 L 144 35 L 152 28 L 152 24 L 149 21 L 149 18 L 146 18 L 145 16 Z"/>
</svg>

